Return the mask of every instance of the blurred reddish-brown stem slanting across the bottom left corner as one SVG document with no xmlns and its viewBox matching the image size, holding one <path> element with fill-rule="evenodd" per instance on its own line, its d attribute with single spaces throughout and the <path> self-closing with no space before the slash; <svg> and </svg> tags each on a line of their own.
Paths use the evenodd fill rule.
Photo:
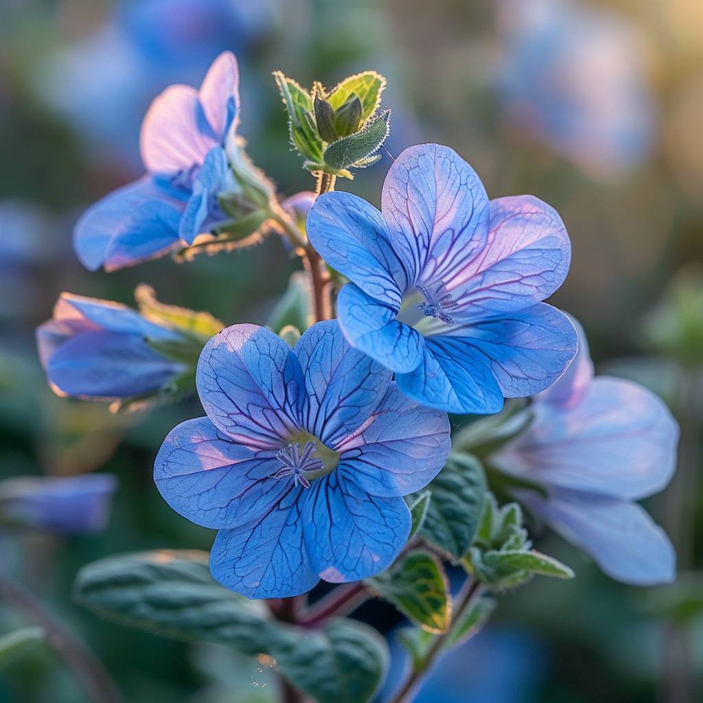
<svg viewBox="0 0 703 703">
<path fill-rule="evenodd" d="M 121 703 L 115 683 L 98 658 L 71 631 L 54 618 L 27 590 L 8 576 L 0 576 L 0 596 L 11 603 L 27 619 L 41 625 L 46 640 L 53 647 L 95 703 Z"/>
</svg>

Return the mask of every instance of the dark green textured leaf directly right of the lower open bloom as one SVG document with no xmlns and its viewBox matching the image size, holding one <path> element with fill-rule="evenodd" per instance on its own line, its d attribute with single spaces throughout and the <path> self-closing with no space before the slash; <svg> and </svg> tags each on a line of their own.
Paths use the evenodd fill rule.
<svg viewBox="0 0 703 703">
<path fill-rule="evenodd" d="M 420 534 L 458 561 L 479 524 L 486 494 L 483 468 L 475 457 L 450 455 L 427 488 L 432 499 Z"/>
</svg>

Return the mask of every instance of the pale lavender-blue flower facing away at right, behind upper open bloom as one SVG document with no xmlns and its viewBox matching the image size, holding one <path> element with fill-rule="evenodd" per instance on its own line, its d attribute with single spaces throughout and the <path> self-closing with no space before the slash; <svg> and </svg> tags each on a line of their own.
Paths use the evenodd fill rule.
<svg viewBox="0 0 703 703">
<path fill-rule="evenodd" d="M 593 378 L 588 344 L 567 372 L 536 396 L 522 434 L 491 456 L 498 469 L 541 486 L 515 491 L 613 579 L 673 581 L 669 538 L 637 503 L 661 491 L 676 465 L 678 427 L 666 405 L 636 383 Z"/>
</svg>

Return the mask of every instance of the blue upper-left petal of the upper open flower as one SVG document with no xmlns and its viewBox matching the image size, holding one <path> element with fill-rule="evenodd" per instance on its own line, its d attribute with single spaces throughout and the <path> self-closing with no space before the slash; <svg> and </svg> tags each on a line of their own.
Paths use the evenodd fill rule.
<svg viewBox="0 0 703 703">
<path fill-rule="evenodd" d="M 373 205 L 351 193 L 324 193 L 311 207 L 306 228 L 311 244 L 333 269 L 367 295 L 399 309 L 411 278 Z"/>
</svg>

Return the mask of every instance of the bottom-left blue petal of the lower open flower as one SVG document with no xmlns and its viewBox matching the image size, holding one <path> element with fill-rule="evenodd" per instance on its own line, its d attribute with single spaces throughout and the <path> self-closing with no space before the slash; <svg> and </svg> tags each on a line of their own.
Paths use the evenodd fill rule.
<svg viewBox="0 0 703 703">
<path fill-rule="evenodd" d="M 307 593 L 320 580 L 303 540 L 300 487 L 288 484 L 258 520 L 217 533 L 210 572 L 217 581 L 247 598 L 289 598 Z"/>
</svg>

